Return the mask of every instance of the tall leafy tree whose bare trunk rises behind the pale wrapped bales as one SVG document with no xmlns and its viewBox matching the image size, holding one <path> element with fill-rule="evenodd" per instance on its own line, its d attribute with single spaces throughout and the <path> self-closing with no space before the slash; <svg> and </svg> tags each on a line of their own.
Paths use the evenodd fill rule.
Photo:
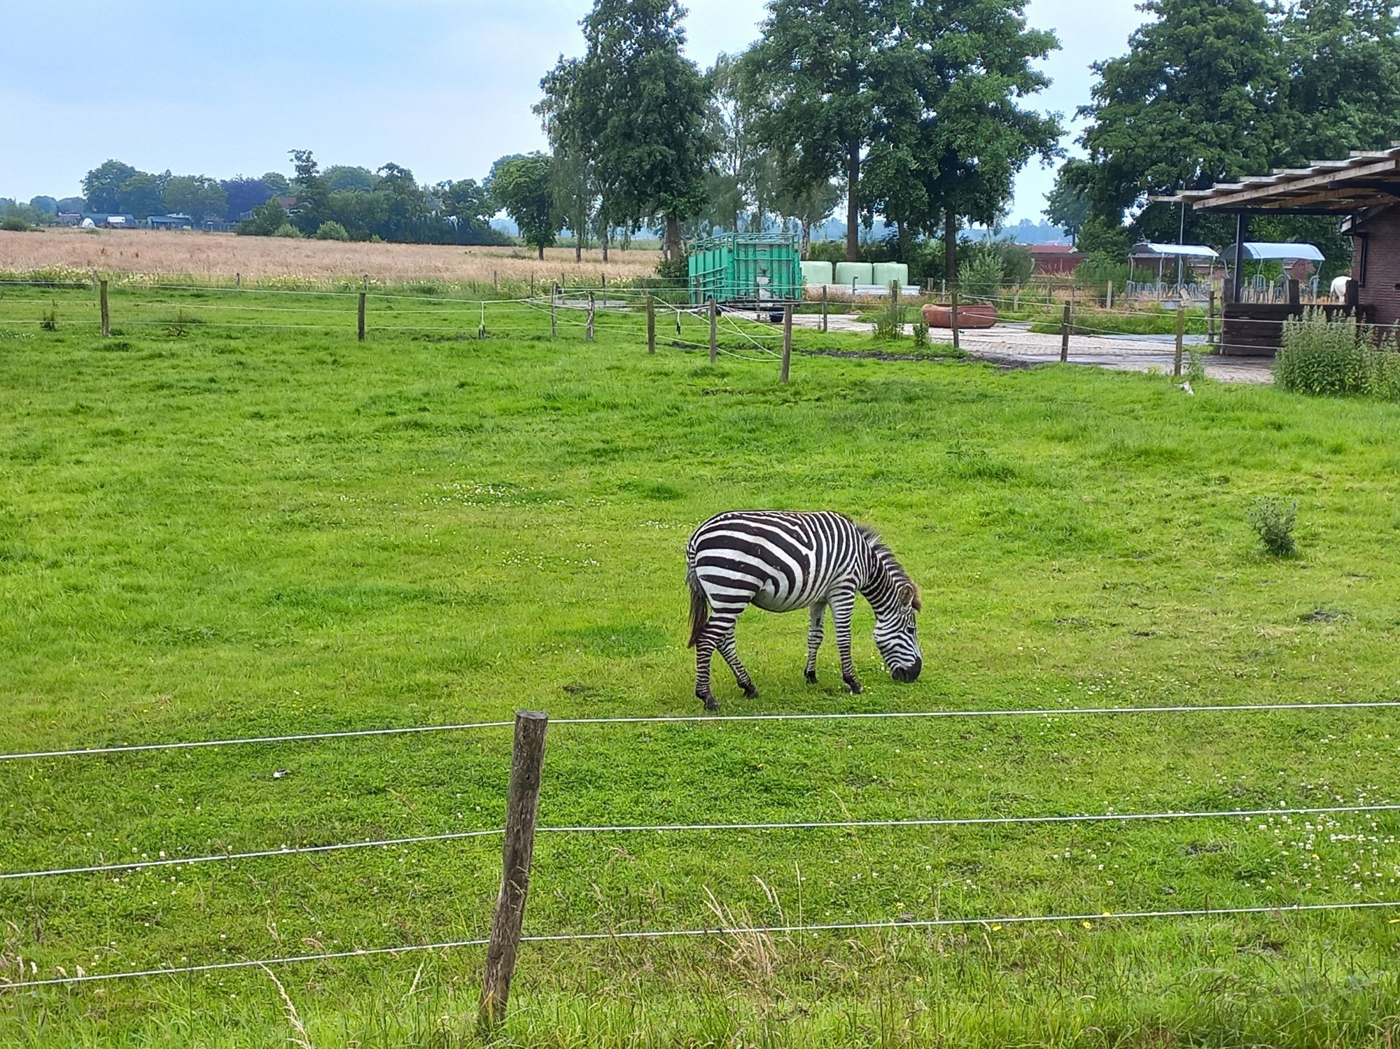
<svg viewBox="0 0 1400 1049">
<path fill-rule="evenodd" d="M 885 81 L 896 46 L 896 4 L 771 0 L 759 42 L 743 56 L 764 141 L 808 183 L 843 178 L 846 259 L 860 259 L 861 161 L 888 131 Z"/>
</svg>

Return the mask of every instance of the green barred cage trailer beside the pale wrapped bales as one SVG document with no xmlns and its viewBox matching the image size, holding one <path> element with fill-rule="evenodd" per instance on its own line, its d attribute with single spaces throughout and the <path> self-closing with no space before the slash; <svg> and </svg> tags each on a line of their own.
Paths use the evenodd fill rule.
<svg viewBox="0 0 1400 1049">
<path fill-rule="evenodd" d="M 798 302 L 798 239 L 781 234 L 724 234 L 690 245 L 690 301 L 722 305 Z"/>
</svg>

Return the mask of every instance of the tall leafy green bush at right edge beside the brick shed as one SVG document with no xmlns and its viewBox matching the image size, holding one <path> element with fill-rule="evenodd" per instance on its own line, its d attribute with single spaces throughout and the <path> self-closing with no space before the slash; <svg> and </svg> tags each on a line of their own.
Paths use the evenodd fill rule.
<svg viewBox="0 0 1400 1049">
<path fill-rule="evenodd" d="M 1400 400 L 1400 354 L 1382 350 L 1371 329 L 1308 311 L 1284 322 L 1274 380 L 1285 390 L 1319 397 Z"/>
</svg>

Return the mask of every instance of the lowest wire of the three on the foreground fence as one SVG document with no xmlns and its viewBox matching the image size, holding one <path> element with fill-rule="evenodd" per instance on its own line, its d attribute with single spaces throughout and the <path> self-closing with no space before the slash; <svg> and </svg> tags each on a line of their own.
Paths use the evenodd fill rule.
<svg viewBox="0 0 1400 1049">
<path fill-rule="evenodd" d="M 1343 901 L 1333 904 L 1280 904 L 1277 906 L 1212 906 L 1182 908 L 1177 911 L 1123 911 L 1085 912 L 1079 915 L 1004 915 L 998 918 L 924 918 L 896 919 L 889 922 L 830 922 L 825 925 L 773 925 L 773 926 L 715 926 L 711 929 L 638 929 L 609 933 L 536 933 L 522 936 L 521 943 L 581 943 L 589 940 L 662 940 L 700 939 L 707 936 L 791 936 L 794 933 L 850 933 L 896 929 L 952 929 L 966 926 L 1008 926 L 1008 925 L 1063 925 L 1065 922 L 1130 922 L 1161 918 L 1235 918 L 1246 915 L 1288 915 L 1316 913 L 1324 911 L 1389 911 L 1400 908 L 1400 901 Z M 181 965 L 164 969 L 136 969 L 129 972 L 94 972 L 80 976 L 59 976 L 42 980 L 21 980 L 0 983 L 0 990 L 25 987 L 50 987 L 56 985 L 94 983 L 104 980 L 136 979 L 144 976 L 179 976 L 200 972 L 223 972 L 228 969 L 266 968 L 269 965 L 291 965 L 295 962 L 336 961 L 343 958 L 364 958 L 384 954 L 417 954 L 423 951 L 447 951 L 462 947 L 484 947 L 489 941 L 445 940 L 433 944 L 406 944 L 402 947 L 363 947 L 351 951 L 325 951 L 321 954 L 294 954 L 283 958 L 241 959 L 231 962 L 210 962 L 206 965 Z"/>
</svg>

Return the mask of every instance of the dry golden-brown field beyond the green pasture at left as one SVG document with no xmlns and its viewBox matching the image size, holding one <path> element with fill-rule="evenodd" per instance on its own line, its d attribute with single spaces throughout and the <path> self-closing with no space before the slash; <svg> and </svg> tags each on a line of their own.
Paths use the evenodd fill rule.
<svg viewBox="0 0 1400 1049">
<path fill-rule="evenodd" d="M 442 280 L 490 283 L 582 277 L 644 277 L 655 271 L 658 252 L 545 252 L 545 262 L 525 248 L 462 248 L 456 245 L 340 243 L 291 241 L 234 234 L 161 229 L 48 229 L 42 234 L 0 231 L 0 271 L 53 267 L 113 274 L 188 274 L 200 278 L 361 277 L 381 283 Z"/>
</svg>

